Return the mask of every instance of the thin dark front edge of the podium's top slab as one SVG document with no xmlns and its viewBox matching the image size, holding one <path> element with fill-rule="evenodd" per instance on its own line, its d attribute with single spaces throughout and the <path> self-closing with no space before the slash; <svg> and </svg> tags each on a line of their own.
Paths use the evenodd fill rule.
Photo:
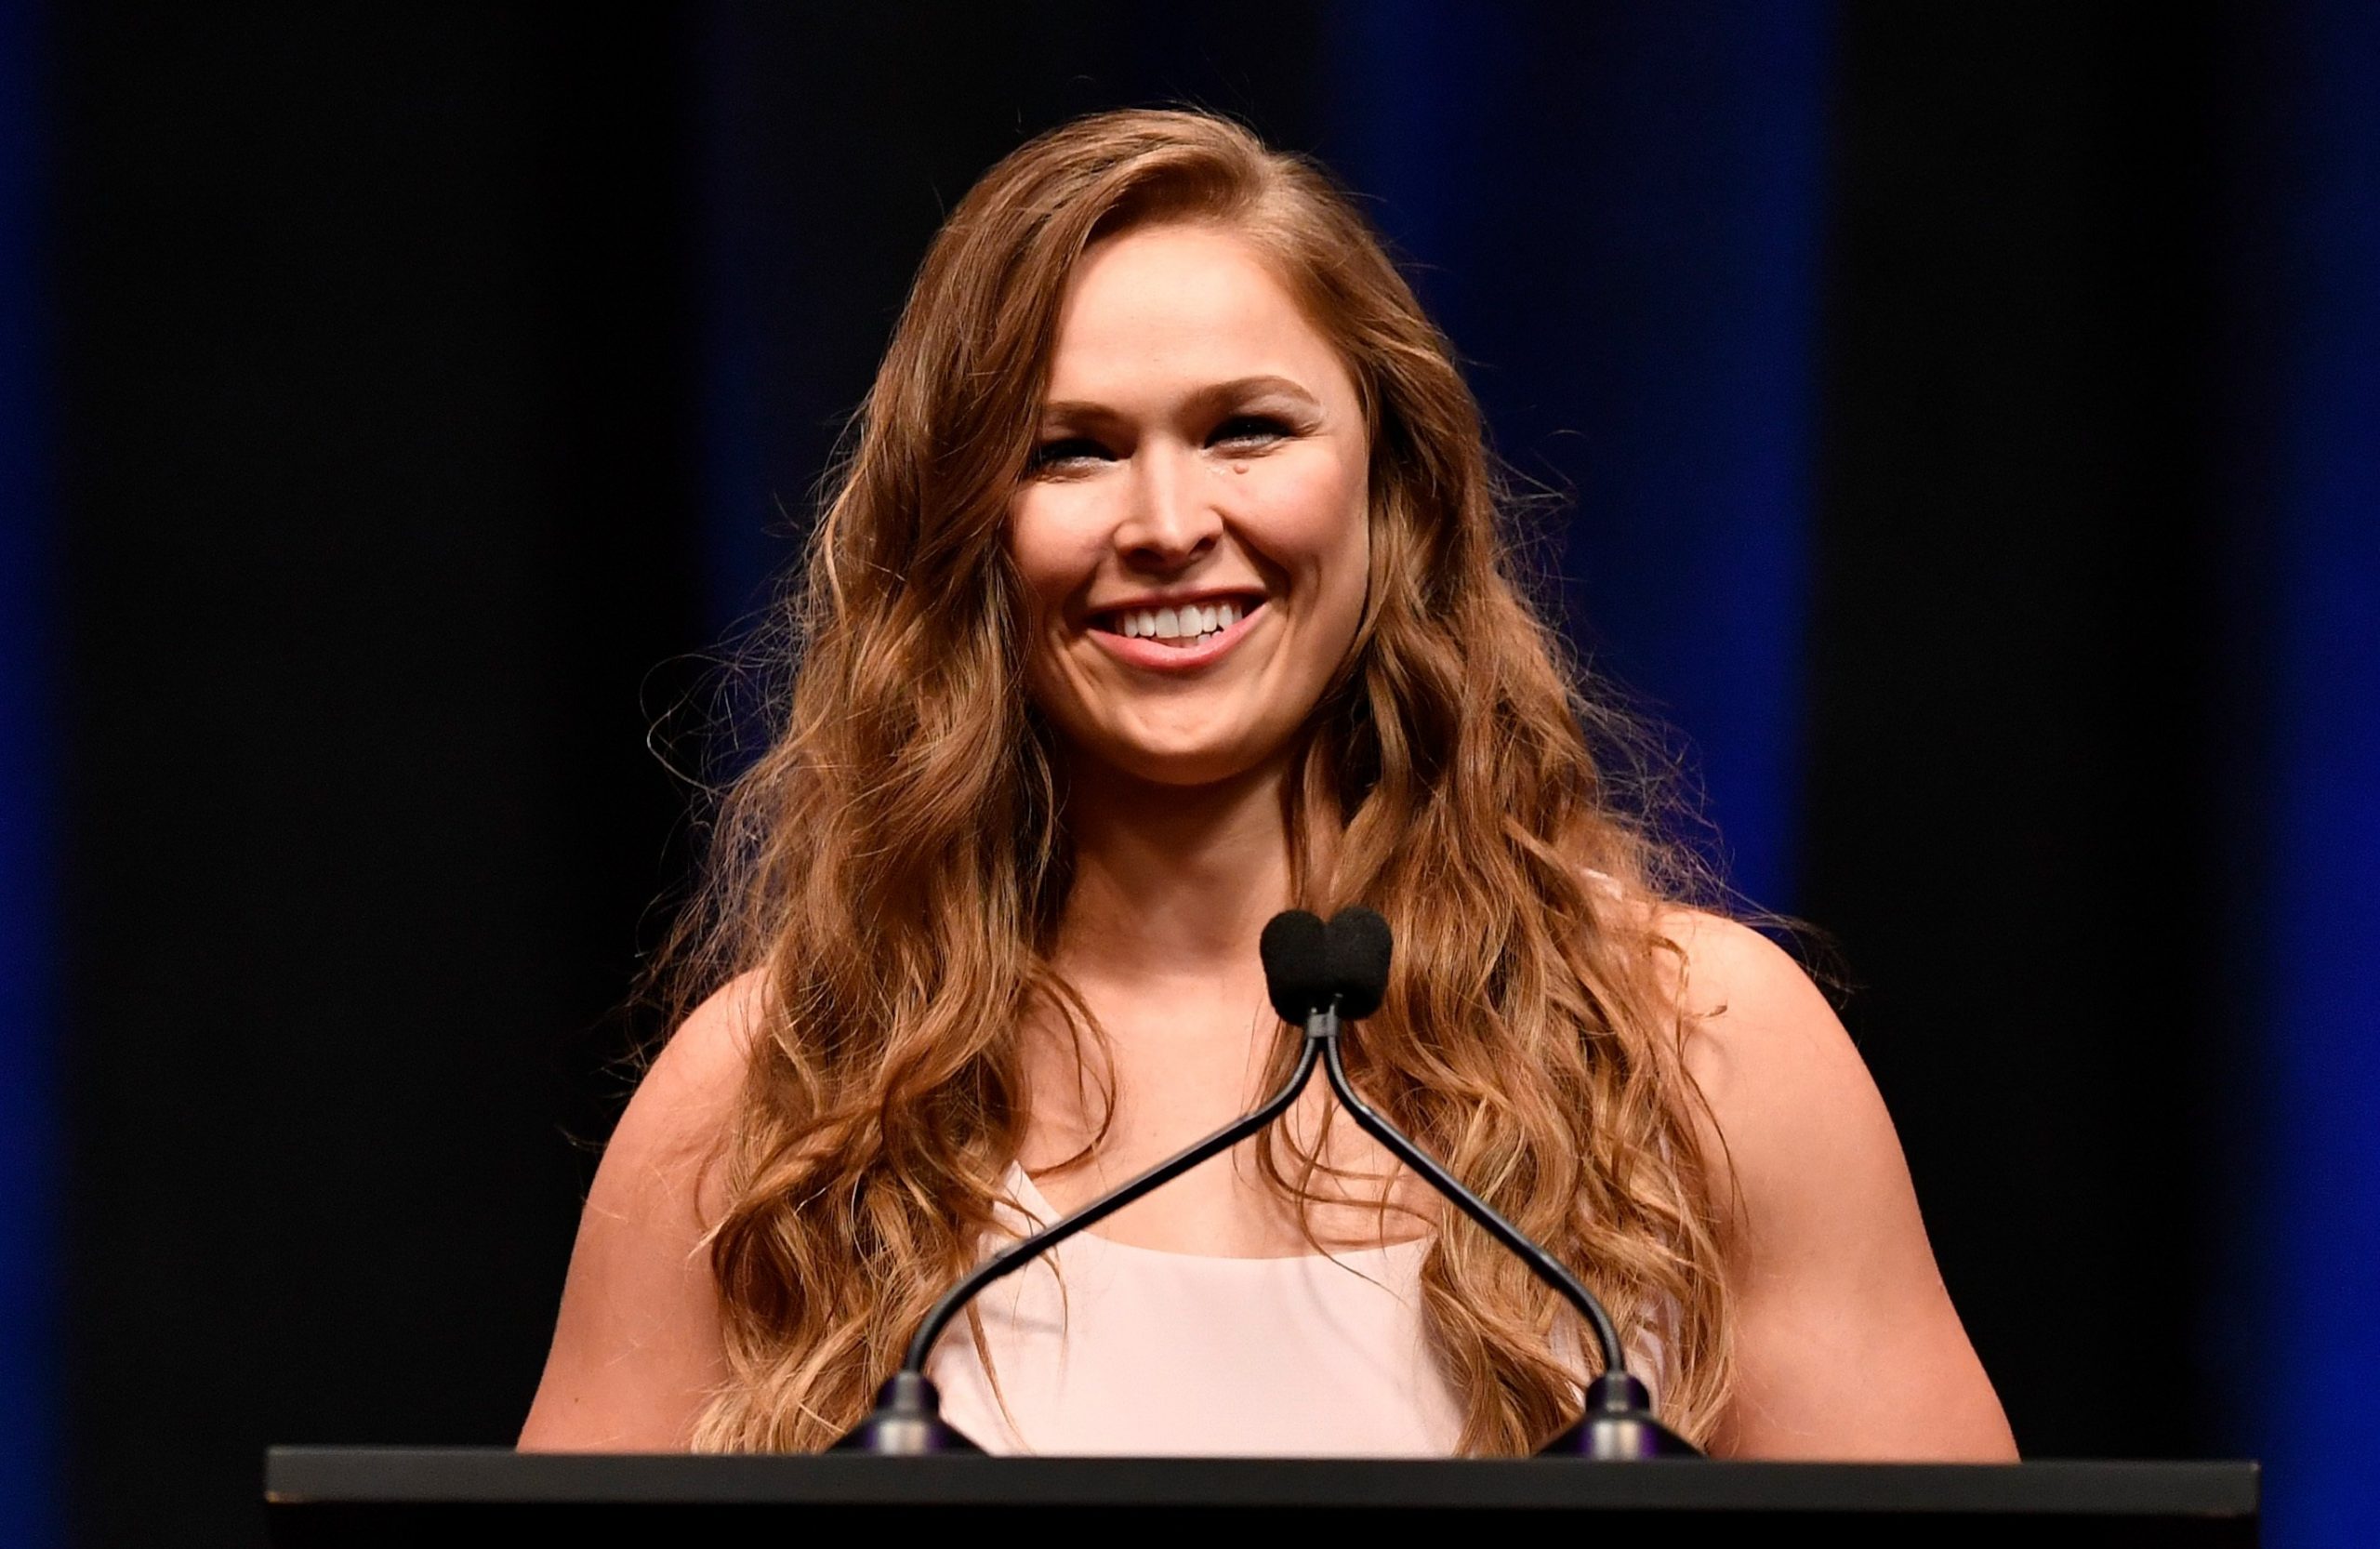
<svg viewBox="0 0 2380 1549">
<path fill-rule="evenodd" d="M 271 1447 L 264 1494 L 274 1509 L 897 1501 L 2254 1518 L 2261 1473 L 2251 1461 L 881 1459 Z"/>
</svg>

